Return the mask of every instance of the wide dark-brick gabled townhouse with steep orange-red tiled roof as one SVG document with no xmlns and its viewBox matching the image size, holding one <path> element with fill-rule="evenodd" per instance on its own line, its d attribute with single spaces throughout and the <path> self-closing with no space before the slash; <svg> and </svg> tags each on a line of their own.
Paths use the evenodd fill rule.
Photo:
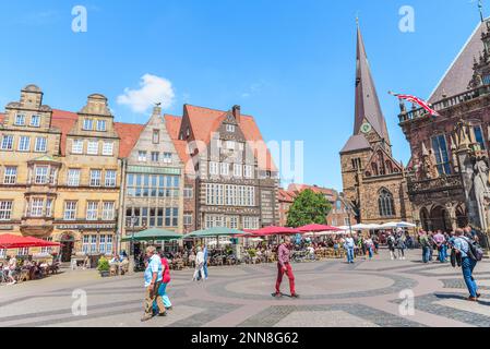
<svg viewBox="0 0 490 349">
<path fill-rule="evenodd" d="M 252 117 L 186 105 L 178 137 L 195 171 L 195 227 L 277 224 L 277 170 Z M 189 188 L 190 189 L 190 188 Z"/>
</svg>

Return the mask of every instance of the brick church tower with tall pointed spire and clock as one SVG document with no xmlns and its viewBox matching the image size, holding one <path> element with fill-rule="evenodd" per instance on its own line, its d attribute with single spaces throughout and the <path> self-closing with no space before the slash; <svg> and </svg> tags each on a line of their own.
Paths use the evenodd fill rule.
<svg viewBox="0 0 490 349">
<path fill-rule="evenodd" d="M 346 198 L 364 224 L 411 220 L 404 166 L 396 161 L 361 32 L 357 29 L 354 134 L 340 151 Z"/>
</svg>

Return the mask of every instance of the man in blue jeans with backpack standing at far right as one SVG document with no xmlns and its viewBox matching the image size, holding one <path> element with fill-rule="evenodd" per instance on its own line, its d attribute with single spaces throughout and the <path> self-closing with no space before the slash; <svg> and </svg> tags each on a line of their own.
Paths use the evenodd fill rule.
<svg viewBox="0 0 490 349">
<path fill-rule="evenodd" d="M 467 298 L 467 300 L 477 302 L 478 298 L 480 298 L 480 293 L 478 293 L 478 286 L 473 277 L 473 272 L 477 263 L 481 261 L 483 256 L 482 250 L 474 240 L 465 237 L 463 229 L 456 229 L 454 250 L 456 251 L 456 254 L 461 256 L 463 277 L 469 291 L 469 298 Z"/>
</svg>

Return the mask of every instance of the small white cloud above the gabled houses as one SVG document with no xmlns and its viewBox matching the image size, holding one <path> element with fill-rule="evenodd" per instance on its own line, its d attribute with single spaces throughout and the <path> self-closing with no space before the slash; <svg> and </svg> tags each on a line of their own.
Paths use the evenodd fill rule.
<svg viewBox="0 0 490 349">
<path fill-rule="evenodd" d="M 172 105 L 176 94 L 171 82 L 152 74 L 141 77 L 140 89 L 124 88 L 124 94 L 117 99 L 118 104 L 129 106 L 134 112 L 144 113 L 155 103 L 162 103 L 163 108 Z"/>
</svg>

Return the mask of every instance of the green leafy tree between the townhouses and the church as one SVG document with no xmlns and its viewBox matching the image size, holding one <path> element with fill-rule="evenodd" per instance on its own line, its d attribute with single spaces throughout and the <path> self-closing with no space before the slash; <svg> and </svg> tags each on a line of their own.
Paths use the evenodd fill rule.
<svg viewBox="0 0 490 349">
<path fill-rule="evenodd" d="M 292 228 L 311 224 L 325 225 L 331 210 L 332 205 L 323 194 L 308 189 L 296 197 L 289 208 L 287 225 Z"/>
</svg>

